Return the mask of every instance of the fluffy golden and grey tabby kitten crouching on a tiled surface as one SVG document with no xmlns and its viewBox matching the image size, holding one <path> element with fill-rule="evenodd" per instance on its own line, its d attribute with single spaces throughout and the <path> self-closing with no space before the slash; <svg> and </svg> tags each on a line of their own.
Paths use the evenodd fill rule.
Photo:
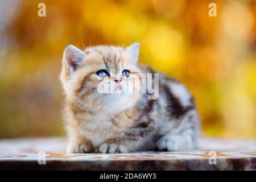
<svg viewBox="0 0 256 182">
<path fill-rule="evenodd" d="M 133 81 L 140 80 L 140 73 L 155 73 L 137 65 L 139 46 L 65 48 L 60 79 L 65 91 L 68 152 L 185 151 L 196 147 L 199 119 L 193 97 L 180 82 L 160 74 L 156 99 L 149 99 L 148 92 L 122 92 L 138 91 Z M 102 83 L 115 92 L 98 92 Z"/>
</svg>

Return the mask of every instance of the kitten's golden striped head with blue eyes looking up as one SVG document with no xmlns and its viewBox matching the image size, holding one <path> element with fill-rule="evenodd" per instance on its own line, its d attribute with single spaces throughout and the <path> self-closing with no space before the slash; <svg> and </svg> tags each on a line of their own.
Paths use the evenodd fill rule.
<svg viewBox="0 0 256 182">
<path fill-rule="evenodd" d="M 129 107 L 139 99 L 139 43 L 127 48 L 67 46 L 61 82 L 69 101 L 85 105 Z"/>
</svg>

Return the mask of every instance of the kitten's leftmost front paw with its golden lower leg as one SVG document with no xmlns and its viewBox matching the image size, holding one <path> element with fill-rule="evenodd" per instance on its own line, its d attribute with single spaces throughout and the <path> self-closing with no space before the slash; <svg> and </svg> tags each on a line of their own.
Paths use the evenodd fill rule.
<svg viewBox="0 0 256 182">
<path fill-rule="evenodd" d="M 68 137 L 68 153 L 87 153 L 93 151 L 92 143 L 85 138 L 77 135 L 72 135 Z"/>
</svg>

